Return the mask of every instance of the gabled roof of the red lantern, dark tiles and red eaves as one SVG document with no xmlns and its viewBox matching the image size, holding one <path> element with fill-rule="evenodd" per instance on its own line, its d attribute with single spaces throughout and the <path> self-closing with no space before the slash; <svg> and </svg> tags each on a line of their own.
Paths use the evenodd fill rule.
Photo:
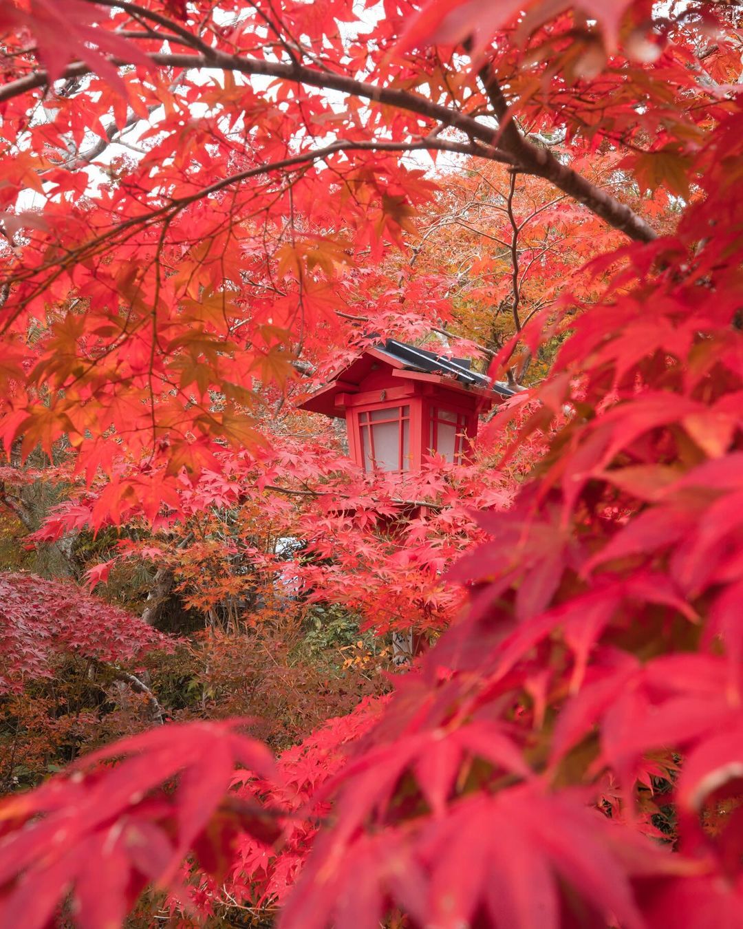
<svg viewBox="0 0 743 929">
<path fill-rule="evenodd" d="M 386 367 L 396 380 L 424 379 L 458 393 L 477 394 L 491 400 L 515 394 L 515 390 L 507 384 L 491 381 L 487 374 L 473 371 L 469 359 L 449 358 L 398 339 L 385 339 L 378 345 L 365 348 L 357 359 L 334 373 L 327 385 L 316 390 L 299 407 L 326 416 L 342 416 L 343 412 L 335 402 L 336 396 L 357 392 L 362 382 L 382 367 Z"/>
</svg>

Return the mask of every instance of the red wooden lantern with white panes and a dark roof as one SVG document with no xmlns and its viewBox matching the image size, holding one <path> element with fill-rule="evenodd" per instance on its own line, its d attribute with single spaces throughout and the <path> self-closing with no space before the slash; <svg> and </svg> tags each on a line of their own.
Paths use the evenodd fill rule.
<svg viewBox="0 0 743 929">
<path fill-rule="evenodd" d="M 477 416 L 514 391 L 492 384 L 470 362 L 396 339 L 367 348 L 301 408 L 344 416 L 351 458 L 365 471 L 419 470 L 437 452 L 460 464 L 477 434 Z"/>
</svg>

